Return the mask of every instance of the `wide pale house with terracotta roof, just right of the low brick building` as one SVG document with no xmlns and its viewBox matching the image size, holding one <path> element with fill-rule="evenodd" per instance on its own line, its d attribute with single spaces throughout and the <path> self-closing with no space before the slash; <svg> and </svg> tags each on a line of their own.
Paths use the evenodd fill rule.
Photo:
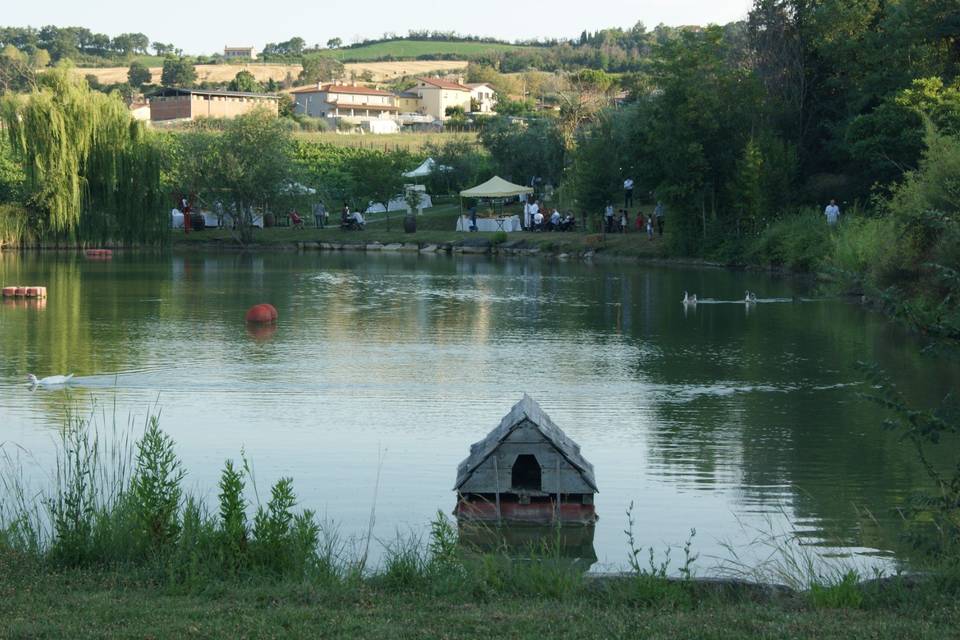
<svg viewBox="0 0 960 640">
<path fill-rule="evenodd" d="M 343 84 L 317 84 L 294 89 L 296 112 L 314 118 L 344 118 L 360 124 L 367 120 L 395 120 L 397 97 L 387 91 Z"/>
</svg>

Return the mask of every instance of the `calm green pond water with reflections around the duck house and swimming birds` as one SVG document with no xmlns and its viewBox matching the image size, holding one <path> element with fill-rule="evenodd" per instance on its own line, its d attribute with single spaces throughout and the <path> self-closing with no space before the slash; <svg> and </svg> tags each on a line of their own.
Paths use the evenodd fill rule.
<svg viewBox="0 0 960 640">
<path fill-rule="evenodd" d="M 0 256 L 0 284 L 44 284 L 42 308 L 0 305 L 0 443 L 44 478 L 70 407 L 122 421 L 162 409 L 190 487 L 253 460 L 261 492 L 290 475 L 346 535 L 422 532 L 454 504 L 456 465 L 526 392 L 577 440 L 600 487 L 597 566 L 696 528 L 698 567 L 759 562 L 790 531 L 859 562 L 905 557 L 893 512 L 922 470 L 859 399 L 858 360 L 914 401 L 960 366 L 882 318 L 803 283 L 650 265 L 416 255 Z M 684 290 L 701 299 L 684 310 Z M 791 300 L 796 296 L 797 300 Z M 272 334 L 243 322 L 280 312 Z M 69 391 L 25 385 L 74 372 Z M 115 407 L 115 408 L 114 408 Z M 379 469 L 379 489 L 377 476 Z M 817 548 L 819 548 L 817 547 Z M 674 552 L 674 557 L 677 552 Z"/>
</svg>

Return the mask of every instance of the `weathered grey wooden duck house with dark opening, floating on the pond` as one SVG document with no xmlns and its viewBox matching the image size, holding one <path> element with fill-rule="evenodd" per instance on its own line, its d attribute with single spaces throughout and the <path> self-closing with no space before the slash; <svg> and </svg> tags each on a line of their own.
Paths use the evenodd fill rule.
<svg viewBox="0 0 960 640">
<path fill-rule="evenodd" d="M 592 525 L 593 465 L 580 446 L 524 394 L 457 467 L 462 521 Z"/>
</svg>

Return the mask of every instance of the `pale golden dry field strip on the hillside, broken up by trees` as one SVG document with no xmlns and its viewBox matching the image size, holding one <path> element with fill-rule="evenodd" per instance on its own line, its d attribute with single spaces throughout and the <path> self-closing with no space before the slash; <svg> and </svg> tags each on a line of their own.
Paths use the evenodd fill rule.
<svg viewBox="0 0 960 640">
<path fill-rule="evenodd" d="M 373 75 L 374 82 L 384 82 L 406 75 L 454 73 L 466 70 L 467 63 L 462 60 L 407 60 L 347 63 L 344 67 L 347 77 L 350 77 L 351 72 L 359 76 L 369 71 Z M 101 84 L 115 84 L 127 81 L 127 69 L 127 67 L 77 67 L 76 73 L 82 76 L 96 76 Z M 280 82 L 287 77 L 287 74 L 296 78 L 301 67 L 298 64 L 248 62 L 246 64 L 198 64 L 196 69 L 198 82 L 229 82 L 238 71 L 244 69 L 252 73 L 260 82 L 266 82 L 271 78 Z M 162 67 L 150 67 L 150 73 L 153 74 L 151 82 L 159 84 L 162 71 Z"/>
</svg>

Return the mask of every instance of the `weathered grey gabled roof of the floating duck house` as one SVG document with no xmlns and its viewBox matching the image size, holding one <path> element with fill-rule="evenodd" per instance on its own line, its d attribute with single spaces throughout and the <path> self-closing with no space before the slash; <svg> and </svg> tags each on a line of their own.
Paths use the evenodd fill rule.
<svg viewBox="0 0 960 640">
<path fill-rule="evenodd" d="M 565 490 L 562 491 L 563 493 L 598 492 L 597 482 L 593 475 L 593 465 L 580 453 L 580 445 L 567 436 L 567 434 L 550 419 L 550 416 L 540 408 L 540 405 L 527 394 L 523 394 L 520 402 L 513 405 L 510 413 L 504 416 L 503 420 L 500 421 L 500 425 L 487 434 L 486 438 L 470 446 L 470 455 L 457 467 L 457 482 L 454 490 L 470 491 L 470 488 L 465 487 L 465 485 L 478 469 L 484 466 L 484 462 L 510 438 L 511 434 L 528 425 L 538 431 L 543 440 L 549 445 L 552 445 L 552 448 L 560 454 L 569 467 L 576 470 L 582 479 L 583 484 L 579 490 L 570 491 L 573 487 L 564 487 Z M 549 470 L 549 467 L 546 469 Z M 548 487 L 553 485 L 553 483 L 549 482 L 545 484 Z M 486 491 L 485 489 L 480 490 Z M 509 492 L 510 488 L 509 486 L 503 486 L 502 489 L 498 489 L 498 493 L 500 491 Z M 551 492 L 550 489 L 547 489 L 547 491 Z"/>
</svg>

